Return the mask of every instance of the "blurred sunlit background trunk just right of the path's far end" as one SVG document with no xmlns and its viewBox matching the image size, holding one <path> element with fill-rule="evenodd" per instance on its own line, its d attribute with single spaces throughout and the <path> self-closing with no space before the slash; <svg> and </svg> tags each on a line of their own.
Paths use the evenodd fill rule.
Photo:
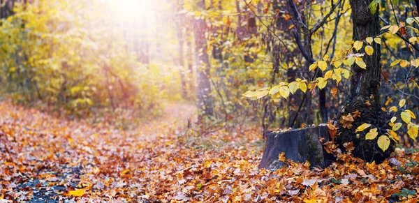
<svg viewBox="0 0 419 203">
<path fill-rule="evenodd" d="M 205 9 L 205 0 L 198 2 L 198 7 Z M 203 19 L 196 20 L 194 27 L 196 62 L 198 63 L 198 120 L 202 121 L 204 116 L 213 114 L 213 98 L 211 95 L 210 82 L 210 59 L 207 53 L 207 23 Z"/>
</svg>

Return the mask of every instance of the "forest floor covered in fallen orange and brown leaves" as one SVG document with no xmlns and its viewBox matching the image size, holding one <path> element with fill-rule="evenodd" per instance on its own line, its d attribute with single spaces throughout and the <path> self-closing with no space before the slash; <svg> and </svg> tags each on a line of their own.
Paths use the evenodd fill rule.
<svg viewBox="0 0 419 203">
<path fill-rule="evenodd" d="M 417 202 L 419 153 L 382 164 L 349 155 L 325 169 L 259 170 L 259 128 L 198 136 L 195 108 L 168 105 L 137 128 L 58 119 L 0 103 L 3 202 Z"/>
</svg>

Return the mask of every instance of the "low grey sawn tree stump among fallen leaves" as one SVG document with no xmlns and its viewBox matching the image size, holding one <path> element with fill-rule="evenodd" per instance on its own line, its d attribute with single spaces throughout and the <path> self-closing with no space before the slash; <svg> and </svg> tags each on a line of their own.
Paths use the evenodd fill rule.
<svg viewBox="0 0 419 203">
<path fill-rule="evenodd" d="M 259 168 L 278 170 L 285 163 L 278 160 L 280 153 L 295 162 L 309 161 L 311 167 L 328 167 L 335 162 L 335 157 L 327 153 L 319 138 L 330 141 L 328 126 L 317 126 L 290 130 L 284 133 L 268 132 L 265 141 L 265 151 Z"/>
</svg>

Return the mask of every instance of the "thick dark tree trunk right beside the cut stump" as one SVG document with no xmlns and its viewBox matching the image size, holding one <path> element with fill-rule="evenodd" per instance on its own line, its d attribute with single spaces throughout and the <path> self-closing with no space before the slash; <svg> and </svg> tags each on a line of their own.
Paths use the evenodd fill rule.
<svg viewBox="0 0 419 203">
<path fill-rule="evenodd" d="M 380 24 L 378 18 L 378 12 L 373 15 L 368 5 L 372 0 L 351 0 L 352 8 L 352 20 L 353 20 L 353 40 L 365 40 L 367 37 L 377 36 L 380 33 Z M 339 121 L 338 130 L 338 142 L 341 146 L 345 142 L 353 142 L 355 150 L 353 155 L 359 158 L 363 158 L 367 161 L 376 160 L 381 162 L 385 158 L 390 156 L 390 153 L 395 149 L 395 142 L 390 142 L 390 147 L 386 151 L 382 151 L 377 144 L 377 139 L 380 135 L 387 133 L 388 122 L 390 116 L 381 110 L 379 87 L 380 87 L 380 75 L 381 75 L 381 47 L 377 43 L 372 43 L 374 48 L 374 54 L 369 56 L 367 54 L 362 57 L 363 61 L 367 64 L 366 69 L 362 69 L 359 66 L 352 66 L 351 76 L 351 96 L 341 111 L 341 114 L 337 116 L 339 120 L 341 116 L 347 116 L 358 110 L 360 117 L 354 119 L 352 128 L 344 128 L 343 124 Z M 361 53 L 365 51 L 360 50 Z M 363 123 L 369 123 L 372 125 L 371 128 L 378 128 L 378 136 L 374 140 L 365 140 L 365 134 L 368 130 L 355 133 L 355 129 Z M 359 134 L 357 136 L 357 134 Z M 358 137 L 358 138 L 357 138 Z"/>
</svg>

